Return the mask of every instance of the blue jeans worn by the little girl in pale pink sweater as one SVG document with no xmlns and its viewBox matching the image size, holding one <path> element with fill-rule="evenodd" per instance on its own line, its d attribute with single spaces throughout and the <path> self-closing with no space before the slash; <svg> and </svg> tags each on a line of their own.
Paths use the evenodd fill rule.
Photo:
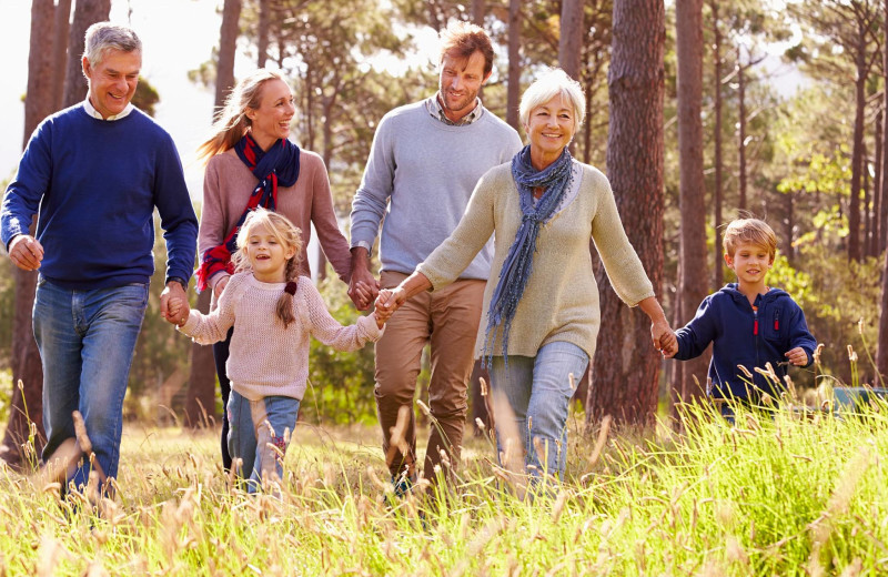
<svg viewBox="0 0 888 577">
<path fill-rule="evenodd" d="M 250 479 L 248 490 L 262 488 L 262 479 L 272 470 L 283 480 L 284 455 L 296 426 L 299 401 L 285 396 L 250 401 L 232 389 L 228 413 L 229 452 L 232 458 L 242 460 L 238 473 Z"/>
</svg>

